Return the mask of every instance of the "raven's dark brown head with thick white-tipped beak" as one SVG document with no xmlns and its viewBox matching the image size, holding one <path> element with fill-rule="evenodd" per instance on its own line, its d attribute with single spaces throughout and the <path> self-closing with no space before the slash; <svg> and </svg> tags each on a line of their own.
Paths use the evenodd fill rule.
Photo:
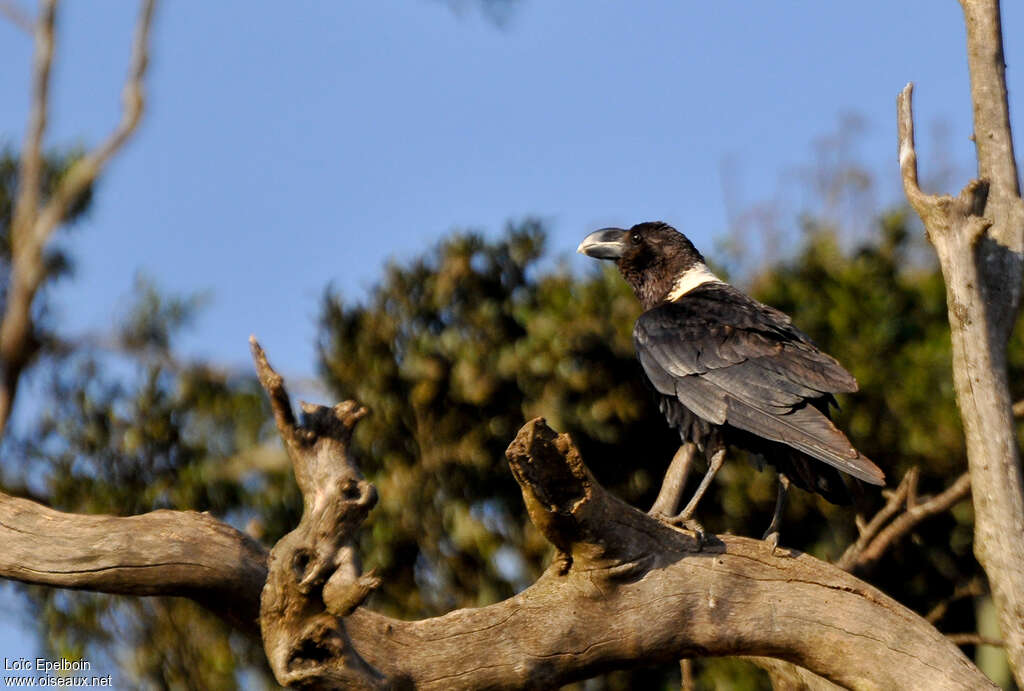
<svg viewBox="0 0 1024 691">
<path fill-rule="evenodd" d="M 632 228 L 601 228 L 580 243 L 577 252 L 615 262 L 644 309 L 673 294 L 687 272 L 713 276 L 703 257 L 683 233 L 668 223 L 648 221 Z"/>
</svg>

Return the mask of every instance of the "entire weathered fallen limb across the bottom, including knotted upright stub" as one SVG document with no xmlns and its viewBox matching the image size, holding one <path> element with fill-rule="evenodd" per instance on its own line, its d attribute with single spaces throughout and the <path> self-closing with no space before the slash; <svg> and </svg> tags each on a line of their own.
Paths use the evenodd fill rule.
<svg viewBox="0 0 1024 691">
<path fill-rule="evenodd" d="M 204 514 L 74 516 L 5 498 L 0 575 L 189 597 L 250 633 L 261 597 L 271 667 L 302 688 L 548 688 L 708 655 L 778 658 L 848 688 L 990 686 L 925 619 L 836 566 L 744 537 L 698 549 L 609 494 L 541 419 L 507 452 L 530 519 L 558 550 L 541 578 L 421 621 L 369 611 L 359 604 L 376 579 L 360 573 L 352 539 L 376 496 L 348 454 L 362 409 L 306 405 L 297 422 L 254 354 L 304 498 L 269 568 L 264 550 Z"/>
</svg>

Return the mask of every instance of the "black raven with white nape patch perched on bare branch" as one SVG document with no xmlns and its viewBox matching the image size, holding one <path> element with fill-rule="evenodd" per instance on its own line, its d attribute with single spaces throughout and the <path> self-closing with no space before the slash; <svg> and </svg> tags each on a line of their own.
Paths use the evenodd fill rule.
<svg viewBox="0 0 1024 691">
<path fill-rule="evenodd" d="M 828 418 L 833 394 L 856 391 L 857 381 L 786 314 L 712 273 L 686 235 L 663 222 L 602 228 L 578 251 L 613 260 L 633 288 L 645 310 L 633 343 L 662 413 L 684 442 L 694 442 L 710 459 L 678 519 L 691 519 L 721 467 L 725 444 L 777 468 L 779 499 L 765 534 L 775 542 L 790 480 L 835 504 L 850 501 L 836 470 L 884 484 L 879 467 Z"/>
</svg>

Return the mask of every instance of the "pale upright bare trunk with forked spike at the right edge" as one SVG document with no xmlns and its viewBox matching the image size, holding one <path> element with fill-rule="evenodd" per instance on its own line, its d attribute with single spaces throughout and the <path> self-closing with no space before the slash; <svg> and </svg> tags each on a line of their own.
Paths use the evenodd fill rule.
<svg viewBox="0 0 1024 691">
<path fill-rule="evenodd" d="M 961 0 L 967 24 L 978 175 L 956 199 L 918 185 L 911 86 L 899 97 L 899 161 L 907 200 L 946 284 L 953 384 L 975 508 L 974 551 L 988 575 L 1007 652 L 1024 686 L 1024 480 L 1007 381 L 1020 309 L 1024 203 L 1007 101 L 998 0 Z"/>
</svg>

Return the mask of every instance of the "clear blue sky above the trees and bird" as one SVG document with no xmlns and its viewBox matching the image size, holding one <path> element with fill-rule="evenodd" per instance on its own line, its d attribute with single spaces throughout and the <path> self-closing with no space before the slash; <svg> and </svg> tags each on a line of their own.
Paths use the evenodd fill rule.
<svg viewBox="0 0 1024 691">
<path fill-rule="evenodd" d="M 1004 4 L 1013 96 L 1024 9 Z M 524 0 L 501 29 L 458 6 L 161 6 L 145 120 L 71 236 L 77 275 L 54 294 L 69 332 L 112 326 L 142 272 L 209 294 L 189 352 L 246 366 L 255 333 L 308 377 L 328 284 L 357 298 L 389 257 L 527 214 L 581 269 L 577 244 L 608 224 L 662 218 L 711 249 L 729 205 L 776 195 L 846 113 L 864 118 L 860 157 L 894 202 L 895 98 L 910 80 L 923 173 L 937 122 L 973 170 L 953 0 Z M 116 122 L 134 19 L 128 2 L 66 3 L 50 145 L 95 143 Z M 14 147 L 30 60 L 28 37 L 0 21 L 0 143 Z M 0 656 L 15 654 L 5 625 Z"/>
</svg>

